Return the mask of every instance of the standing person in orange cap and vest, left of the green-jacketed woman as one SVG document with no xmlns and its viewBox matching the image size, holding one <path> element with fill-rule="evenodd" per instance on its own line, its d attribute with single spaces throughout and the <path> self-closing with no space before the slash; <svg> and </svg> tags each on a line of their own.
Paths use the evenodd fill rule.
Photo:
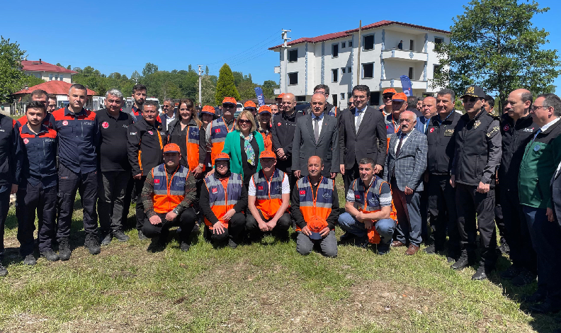
<svg viewBox="0 0 561 333">
<path fill-rule="evenodd" d="M 233 97 L 225 97 L 222 101 L 222 116 L 213 120 L 206 128 L 206 142 L 210 148 L 210 163 L 215 164 L 217 154 L 222 152 L 226 135 L 234 130 L 236 120 L 234 112 L 236 111 L 236 99 Z M 210 176 L 211 171 L 207 174 Z"/>
</svg>

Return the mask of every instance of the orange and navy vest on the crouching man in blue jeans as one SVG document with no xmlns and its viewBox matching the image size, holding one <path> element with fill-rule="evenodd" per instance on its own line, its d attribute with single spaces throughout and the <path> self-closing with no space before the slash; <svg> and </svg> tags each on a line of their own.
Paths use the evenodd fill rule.
<svg viewBox="0 0 561 333">
<path fill-rule="evenodd" d="M 353 181 L 353 192 L 355 195 L 354 206 L 358 211 L 363 213 L 374 213 L 382 210 L 380 206 L 380 191 L 382 191 L 382 184 L 387 181 L 382 181 L 382 179 L 374 175 L 374 181 L 368 188 L 364 186 L 362 179 L 358 178 Z M 393 205 L 392 200 L 392 212 L 390 213 L 390 218 L 397 221 L 397 212 Z M 374 223 L 377 221 L 373 221 Z M 380 234 L 376 231 L 375 227 L 368 230 L 368 242 L 372 244 L 380 244 Z"/>
</svg>

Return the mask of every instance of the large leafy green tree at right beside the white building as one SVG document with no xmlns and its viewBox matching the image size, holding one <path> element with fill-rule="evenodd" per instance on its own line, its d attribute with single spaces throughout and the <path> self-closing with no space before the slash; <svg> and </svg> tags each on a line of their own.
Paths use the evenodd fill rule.
<svg viewBox="0 0 561 333">
<path fill-rule="evenodd" d="M 552 90 L 560 74 L 557 51 L 543 48 L 549 33 L 531 23 L 534 14 L 549 8 L 540 9 L 536 1 L 472 0 L 464 9 L 453 19 L 450 43 L 436 45 L 441 69 L 432 86 L 463 93 L 477 84 L 499 96 L 499 109 L 514 89 Z"/>
</svg>

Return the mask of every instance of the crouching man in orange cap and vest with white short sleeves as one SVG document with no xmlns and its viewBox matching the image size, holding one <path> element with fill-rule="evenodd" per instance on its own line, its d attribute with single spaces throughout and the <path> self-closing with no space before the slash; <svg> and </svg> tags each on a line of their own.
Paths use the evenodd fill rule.
<svg viewBox="0 0 561 333">
<path fill-rule="evenodd" d="M 262 106 L 261 106 L 262 107 Z M 261 167 L 251 176 L 247 191 L 246 230 L 251 240 L 258 240 L 264 232 L 275 231 L 278 237 L 288 239 L 290 227 L 290 183 L 288 176 L 276 169 L 275 153 L 264 150 L 259 154 Z"/>
</svg>

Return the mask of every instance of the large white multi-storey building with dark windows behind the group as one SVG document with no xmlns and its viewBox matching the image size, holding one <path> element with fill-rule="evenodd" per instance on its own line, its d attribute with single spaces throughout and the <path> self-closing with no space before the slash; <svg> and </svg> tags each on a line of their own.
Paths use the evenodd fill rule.
<svg viewBox="0 0 561 333">
<path fill-rule="evenodd" d="M 398 48 L 402 41 L 402 49 Z M 361 55 L 358 63 L 358 28 L 330 33 L 316 38 L 299 38 L 279 52 L 280 89 L 276 93 L 291 93 L 297 101 L 310 101 L 314 86 L 329 86 L 329 103 L 346 108 L 353 86 L 370 88 L 370 104 L 382 103 L 382 91 L 394 88 L 402 91 L 399 79 L 407 75 L 412 81 L 414 96 L 429 96 L 440 90 L 432 88 L 433 73 L 438 67 L 434 52 L 437 43 L 449 43 L 448 31 L 414 26 L 408 23 L 380 21 L 364 26 L 361 31 Z M 360 71 L 360 79 L 357 77 Z"/>
</svg>

